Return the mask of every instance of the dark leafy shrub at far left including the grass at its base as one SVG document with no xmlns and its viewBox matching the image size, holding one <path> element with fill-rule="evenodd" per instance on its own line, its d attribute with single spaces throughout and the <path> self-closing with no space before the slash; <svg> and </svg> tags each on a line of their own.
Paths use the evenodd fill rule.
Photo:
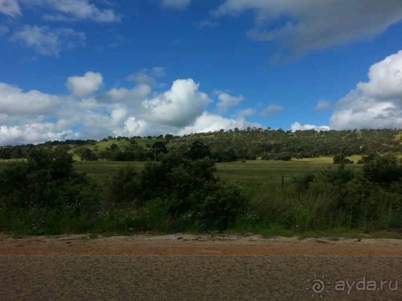
<svg viewBox="0 0 402 301">
<path fill-rule="evenodd" d="M 72 163 L 65 151 L 35 148 L 26 161 L 9 164 L 0 173 L 0 228 L 30 234 L 85 230 L 98 193 Z"/>
</svg>

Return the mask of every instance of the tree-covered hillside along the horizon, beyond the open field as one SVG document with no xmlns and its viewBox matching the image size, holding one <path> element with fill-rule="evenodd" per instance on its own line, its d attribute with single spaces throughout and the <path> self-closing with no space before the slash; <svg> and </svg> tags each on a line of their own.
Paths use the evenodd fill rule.
<svg viewBox="0 0 402 301">
<path fill-rule="evenodd" d="M 400 129 L 362 130 L 297 130 L 262 129 L 248 127 L 239 130 L 219 130 L 206 133 L 191 133 L 183 136 L 172 134 L 158 136 L 108 136 L 101 141 L 111 141 L 106 149 L 99 150 L 95 140 L 48 141 L 38 145 L 2 146 L 0 160 L 25 158 L 35 147 L 74 148 L 81 160 L 146 161 L 171 150 L 188 148 L 199 141 L 210 149 L 210 157 L 217 162 L 235 160 L 290 160 L 291 158 L 316 158 L 343 155 L 345 157 L 370 153 L 402 152 Z M 155 142 L 139 143 L 141 139 Z M 128 142 L 125 146 L 119 141 Z M 342 159 L 339 159 L 341 162 Z"/>
</svg>

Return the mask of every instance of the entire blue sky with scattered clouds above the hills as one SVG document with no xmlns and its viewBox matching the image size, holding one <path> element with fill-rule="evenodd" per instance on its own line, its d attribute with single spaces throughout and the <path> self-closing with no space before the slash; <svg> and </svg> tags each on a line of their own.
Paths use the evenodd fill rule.
<svg viewBox="0 0 402 301">
<path fill-rule="evenodd" d="M 402 0 L 0 0 L 0 145 L 402 128 Z"/>
</svg>

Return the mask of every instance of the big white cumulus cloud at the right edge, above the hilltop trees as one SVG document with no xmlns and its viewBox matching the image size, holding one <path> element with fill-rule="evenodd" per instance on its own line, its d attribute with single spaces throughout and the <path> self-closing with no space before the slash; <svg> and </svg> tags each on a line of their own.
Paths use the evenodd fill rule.
<svg viewBox="0 0 402 301">
<path fill-rule="evenodd" d="M 336 103 L 331 128 L 402 128 L 402 50 L 374 64 L 369 79 Z"/>
</svg>

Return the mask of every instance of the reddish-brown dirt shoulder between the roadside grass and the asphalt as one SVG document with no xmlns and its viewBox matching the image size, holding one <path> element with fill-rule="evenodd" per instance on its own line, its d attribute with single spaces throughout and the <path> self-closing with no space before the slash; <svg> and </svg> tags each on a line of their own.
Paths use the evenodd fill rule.
<svg viewBox="0 0 402 301">
<path fill-rule="evenodd" d="M 240 236 L 172 234 L 112 236 L 90 239 L 88 235 L 29 236 L 0 235 L 3 255 L 344 255 L 401 256 L 398 239 L 327 239 L 297 237 L 264 238 Z"/>
</svg>

